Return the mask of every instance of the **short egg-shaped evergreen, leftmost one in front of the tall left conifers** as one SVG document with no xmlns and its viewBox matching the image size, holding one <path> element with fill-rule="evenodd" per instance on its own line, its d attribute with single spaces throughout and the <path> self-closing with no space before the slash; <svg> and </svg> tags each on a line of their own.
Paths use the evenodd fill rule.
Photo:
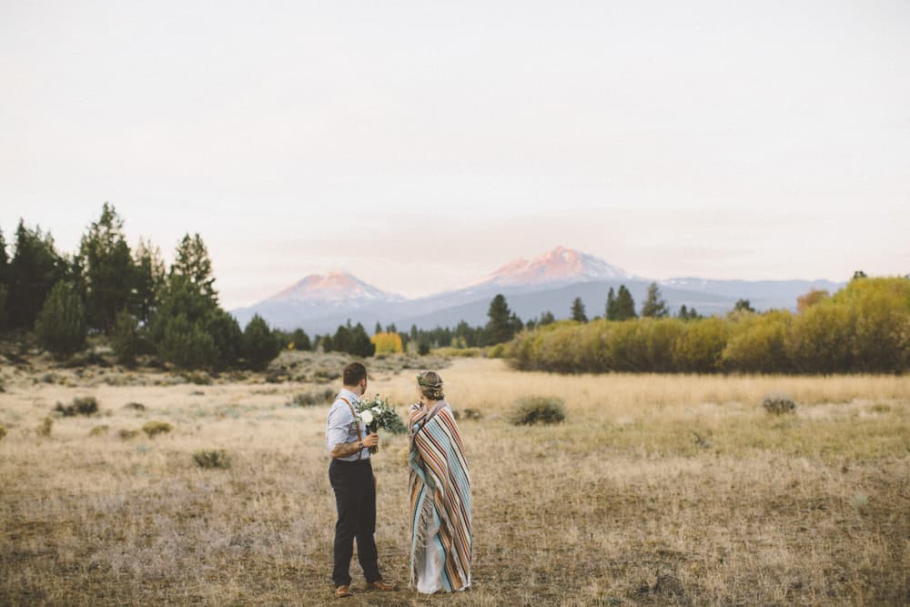
<svg viewBox="0 0 910 607">
<path fill-rule="evenodd" d="M 35 320 L 35 337 L 42 348 L 58 358 L 86 346 L 86 308 L 73 285 L 58 282 L 51 289 Z"/>
</svg>

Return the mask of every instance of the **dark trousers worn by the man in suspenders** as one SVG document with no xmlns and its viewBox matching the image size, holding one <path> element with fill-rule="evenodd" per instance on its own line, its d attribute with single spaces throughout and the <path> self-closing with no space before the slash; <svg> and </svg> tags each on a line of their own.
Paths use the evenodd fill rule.
<svg viewBox="0 0 910 607">
<path fill-rule="evenodd" d="M 339 521 L 335 523 L 335 568 L 332 582 L 336 586 L 350 585 L 350 558 L 357 539 L 357 560 L 367 582 L 378 582 L 376 541 L 376 486 L 369 460 L 339 461 L 329 464 L 329 482 L 335 490 L 335 505 Z"/>
</svg>

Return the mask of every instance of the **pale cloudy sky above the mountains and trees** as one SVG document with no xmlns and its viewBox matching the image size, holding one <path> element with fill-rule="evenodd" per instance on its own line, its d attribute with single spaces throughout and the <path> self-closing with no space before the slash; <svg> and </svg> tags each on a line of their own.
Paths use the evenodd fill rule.
<svg viewBox="0 0 910 607">
<path fill-rule="evenodd" d="M 578 248 L 910 272 L 910 2 L 0 0 L 0 228 L 206 241 L 222 302 Z"/>
</svg>

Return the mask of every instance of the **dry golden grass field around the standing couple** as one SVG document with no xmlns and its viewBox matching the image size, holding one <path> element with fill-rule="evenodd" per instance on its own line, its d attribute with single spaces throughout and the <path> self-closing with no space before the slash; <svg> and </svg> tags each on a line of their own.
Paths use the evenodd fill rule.
<svg viewBox="0 0 910 607">
<path fill-rule="evenodd" d="M 296 359 L 288 380 L 210 385 L 5 366 L 0 604 L 335 602 L 328 404 L 287 404 L 337 387 L 307 371 L 318 362 Z M 403 413 L 414 372 L 373 366 L 368 394 Z M 492 359 L 454 360 L 442 376 L 456 410 L 483 415 L 460 422 L 473 588 L 408 590 L 407 443 L 383 436 L 380 567 L 401 590 L 345 604 L 910 603 L 908 377 L 555 376 Z M 775 392 L 793 414 L 763 410 Z M 568 420 L 511 426 L 528 395 L 565 400 Z M 84 396 L 100 413 L 52 416 L 45 436 L 56 403 Z M 173 430 L 150 438 L 153 420 Z M 194 452 L 215 449 L 229 468 L 197 466 Z M 356 591 L 356 560 L 351 572 Z"/>
</svg>

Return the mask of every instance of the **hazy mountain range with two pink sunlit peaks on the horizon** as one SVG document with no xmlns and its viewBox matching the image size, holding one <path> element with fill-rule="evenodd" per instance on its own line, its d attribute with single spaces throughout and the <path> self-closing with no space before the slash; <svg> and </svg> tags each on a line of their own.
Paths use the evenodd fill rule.
<svg viewBox="0 0 910 607">
<path fill-rule="evenodd" d="M 403 298 L 373 287 L 344 272 L 313 275 L 248 308 L 233 310 L 241 325 L 258 313 L 273 327 L 310 333 L 334 332 L 348 319 L 372 330 L 376 322 L 395 323 L 400 330 L 417 325 L 431 329 L 454 326 L 460 320 L 484 324 L 490 299 L 502 293 L 521 319 L 551 311 L 557 319 L 570 316 L 571 302 L 580 297 L 588 317 L 602 316 L 607 291 L 625 285 L 639 308 L 650 278 L 635 277 L 606 261 L 571 248 L 557 247 L 531 260 L 516 259 L 490 275 L 443 293 Z M 795 309 L 796 298 L 813 288 L 834 292 L 844 283 L 827 280 L 707 280 L 671 278 L 658 281 L 670 309 L 695 308 L 704 315 L 733 309 L 737 299 L 749 299 L 755 309 Z"/>
</svg>

